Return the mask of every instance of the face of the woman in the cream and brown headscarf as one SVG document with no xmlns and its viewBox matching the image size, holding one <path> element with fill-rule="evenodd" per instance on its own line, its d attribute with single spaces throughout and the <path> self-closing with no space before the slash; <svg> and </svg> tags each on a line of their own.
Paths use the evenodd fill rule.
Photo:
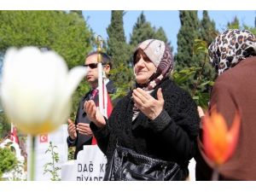
<svg viewBox="0 0 256 192">
<path fill-rule="evenodd" d="M 149 78 L 156 72 L 154 63 L 145 54 L 138 54 L 134 61 L 134 73 L 137 84 L 147 84 Z"/>
</svg>

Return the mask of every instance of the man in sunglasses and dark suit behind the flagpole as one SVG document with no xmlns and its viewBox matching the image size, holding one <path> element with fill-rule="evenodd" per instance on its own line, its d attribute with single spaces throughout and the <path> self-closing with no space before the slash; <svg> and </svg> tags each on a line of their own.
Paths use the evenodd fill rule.
<svg viewBox="0 0 256 192">
<path fill-rule="evenodd" d="M 77 155 L 80 150 L 83 149 L 84 145 L 94 144 L 93 133 L 90 130 L 90 120 L 87 118 L 86 113 L 84 112 L 84 102 L 88 100 L 94 100 L 98 102 L 98 68 L 97 68 L 97 55 L 96 51 L 91 52 L 86 56 L 84 67 L 87 69 L 87 74 L 85 79 L 90 84 L 90 91 L 87 92 L 79 102 L 78 112 L 76 114 L 75 122 L 71 119 L 68 119 L 68 137 L 67 137 L 67 146 L 76 147 L 74 153 L 74 159 L 77 159 Z M 102 53 L 102 69 L 108 75 L 110 68 L 112 67 L 111 58 Z M 108 76 L 107 76 L 108 77 Z M 113 86 L 113 81 L 107 79 L 106 84 L 108 94 L 113 94 L 116 89 Z"/>
</svg>

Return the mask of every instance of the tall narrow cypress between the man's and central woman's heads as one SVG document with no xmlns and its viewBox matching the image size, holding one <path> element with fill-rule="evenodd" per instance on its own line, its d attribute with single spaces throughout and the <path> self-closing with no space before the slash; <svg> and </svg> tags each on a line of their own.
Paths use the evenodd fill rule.
<svg viewBox="0 0 256 192">
<path fill-rule="evenodd" d="M 112 55 L 113 59 L 113 72 L 110 78 L 113 79 L 118 88 L 122 84 L 128 84 L 132 79 L 131 73 L 119 73 L 124 68 L 130 68 L 130 47 L 125 41 L 124 14 L 123 10 L 113 10 L 111 12 L 111 23 L 107 28 L 108 55 Z M 118 70 L 118 73 L 115 73 L 114 70 Z"/>
</svg>

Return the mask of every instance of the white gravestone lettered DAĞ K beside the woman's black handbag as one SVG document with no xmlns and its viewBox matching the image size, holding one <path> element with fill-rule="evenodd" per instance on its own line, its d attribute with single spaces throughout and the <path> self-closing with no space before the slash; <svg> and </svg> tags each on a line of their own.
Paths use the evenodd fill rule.
<svg viewBox="0 0 256 192">
<path fill-rule="evenodd" d="M 84 145 L 77 160 L 61 166 L 62 181 L 102 181 L 107 159 L 97 145 Z"/>
</svg>

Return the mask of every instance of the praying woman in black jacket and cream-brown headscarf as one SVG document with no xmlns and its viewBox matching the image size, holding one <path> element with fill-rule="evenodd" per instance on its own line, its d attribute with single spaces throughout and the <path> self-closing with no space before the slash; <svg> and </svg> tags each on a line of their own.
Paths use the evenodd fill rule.
<svg viewBox="0 0 256 192">
<path fill-rule="evenodd" d="M 195 102 L 170 79 L 174 62 L 167 44 L 148 39 L 137 46 L 133 58 L 136 89 L 117 103 L 109 119 L 93 101 L 84 103 L 98 146 L 107 155 L 106 173 L 118 142 L 138 154 L 176 162 L 185 180 L 199 131 Z"/>
</svg>

